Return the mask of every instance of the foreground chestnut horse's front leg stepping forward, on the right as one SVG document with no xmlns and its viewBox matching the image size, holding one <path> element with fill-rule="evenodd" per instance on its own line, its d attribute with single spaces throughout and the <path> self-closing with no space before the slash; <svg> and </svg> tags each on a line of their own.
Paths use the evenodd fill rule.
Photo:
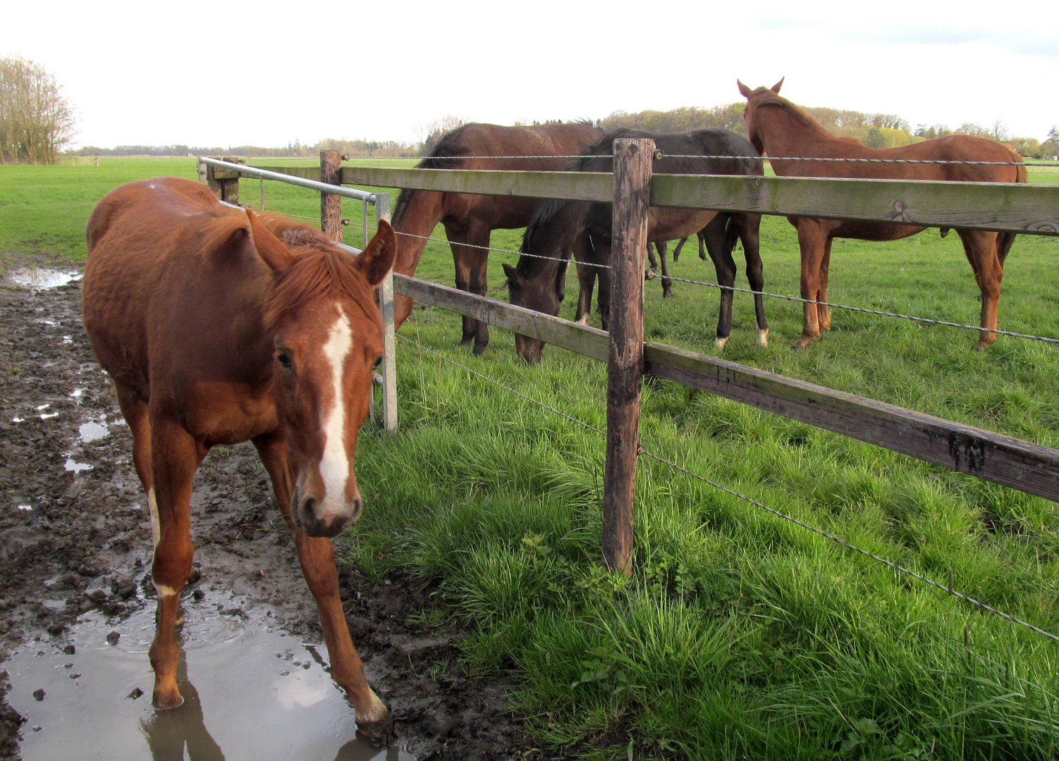
<svg viewBox="0 0 1059 761">
<path fill-rule="evenodd" d="M 254 447 L 272 478 L 272 488 L 280 503 L 283 520 L 294 537 L 302 574 L 316 599 L 331 676 L 353 701 L 353 707 L 357 711 L 357 727 L 369 735 L 383 735 L 389 730 L 390 711 L 367 685 L 364 665 L 353 647 L 339 597 L 338 570 L 335 567 L 335 550 L 330 540 L 306 537 L 294 525 L 290 513 L 292 478 L 283 440 L 274 436 L 259 436 L 254 439 Z"/>
</svg>

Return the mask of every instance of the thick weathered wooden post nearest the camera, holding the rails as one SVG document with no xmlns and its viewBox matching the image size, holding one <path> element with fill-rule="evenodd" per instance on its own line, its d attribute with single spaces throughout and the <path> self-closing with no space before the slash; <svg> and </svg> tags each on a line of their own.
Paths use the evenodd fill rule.
<svg viewBox="0 0 1059 761">
<path fill-rule="evenodd" d="M 603 557 L 632 573 L 633 497 L 644 375 L 644 259 L 654 141 L 614 141 L 610 350 L 607 363 L 607 461 L 603 486 Z"/>
</svg>

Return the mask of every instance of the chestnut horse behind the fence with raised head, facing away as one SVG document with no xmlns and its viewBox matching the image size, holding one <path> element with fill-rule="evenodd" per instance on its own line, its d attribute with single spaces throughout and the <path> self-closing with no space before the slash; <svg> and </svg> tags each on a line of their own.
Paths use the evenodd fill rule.
<svg viewBox="0 0 1059 761">
<path fill-rule="evenodd" d="M 739 92 L 747 98 L 743 119 L 747 135 L 754 147 L 768 156 L 772 168 L 782 177 L 842 177 L 876 180 L 949 180 L 963 182 L 1026 182 L 1024 166 L 975 164 L 873 164 L 866 162 L 811 161 L 811 159 L 912 159 L 918 161 L 995 161 L 1021 163 L 1015 151 L 1000 143 L 966 134 L 951 134 L 936 140 L 896 148 L 868 148 L 856 140 L 836 138 L 806 111 L 779 97 L 780 79 L 772 88 L 751 90 L 741 81 Z M 786 157 L 806 159 L 780 160 Z M 788 217 L 797 229 L 802 250 L 802 297 L 827 301 L 828 267 L 834 238 L 897 240 L 915 235 L 925 228 L 881 222 L 850 222 L 837 219 Z M 956 230 L 964 253 L 971 262 L 974 279 L 982 291 L 982 322 L 977 348 L 997 339 L 985 328 L 997 328 L 997 302 L 1004 275 L 1004 259 L 1015 242 L 1015 233 L 989 233 L 982 230 Z M 943 231 L 944 234 L 944 231 Z M 795 348 L 805 348 L 829 330 L 831 318 L 824 305 L 805 304 L 802 338 Z"/>
</svg>

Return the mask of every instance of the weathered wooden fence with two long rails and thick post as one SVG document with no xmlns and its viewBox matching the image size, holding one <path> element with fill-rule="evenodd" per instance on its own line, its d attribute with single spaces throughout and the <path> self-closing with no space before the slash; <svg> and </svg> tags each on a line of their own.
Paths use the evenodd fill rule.
<svg viewBox="0 0 1059 761">
<path fill-rule="evenodd" d="M 1059 234 L 1059 185 L 651 175 L 649 140 L 614 143 L 614 174 L 345 166 L 342 184 L 613 203 L 611 331 L 415 277 L 394 292 L 608 362 L 604 559 L 630 572 L 642 375 L 653 375 L 952 470 L 1059 501 L 1059 450 L 716 357 L 643 341 L 643 264 L 650 205 L 923 227 Z M 262 167 L 266 168 L 266 167 Z M 318 180 L 317 167 L 267 167 Z M 210 167 L 237 183 L 252 171 Z M 333 175 L 334 176 L 334 175 Z M 229 199 L 226 199 L 229 200 Z M 392 318 L 392 315 L 391 315 Z"/>
</svg>

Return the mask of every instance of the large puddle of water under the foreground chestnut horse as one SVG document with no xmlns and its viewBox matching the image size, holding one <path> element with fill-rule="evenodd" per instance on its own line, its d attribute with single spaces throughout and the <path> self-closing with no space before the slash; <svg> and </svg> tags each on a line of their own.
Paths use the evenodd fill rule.
<svg viewBox="0 0 1059 761">
<path fill-rule="evenodd" d="M 184 705 L 172 711 L 150 706 L 152 604 L 116 626 L 97 613 L 84 616 L 70 638 L 72 655 L 61 645 L 20 648 L 4 667 L 11 674 L 8 701 L 28 718 L 20 745 L 24 761 L 414 761 L 397 747 L 377 748 L 357 739 L 353 708 L 315 659 L 319 656 L 269 632 L 269 619 L 258 610 L 249 611 L 248 620 L 220 615 L 219 599 L 212 595 L 185 604 L 177 674 Z M 220 606 L 231 604 L 226 600 Z M 115 630 L 121 636 L 108 645 Z M 34 692 L 41 689 L 43 700 L 37 701 Z"/>
</svg>

